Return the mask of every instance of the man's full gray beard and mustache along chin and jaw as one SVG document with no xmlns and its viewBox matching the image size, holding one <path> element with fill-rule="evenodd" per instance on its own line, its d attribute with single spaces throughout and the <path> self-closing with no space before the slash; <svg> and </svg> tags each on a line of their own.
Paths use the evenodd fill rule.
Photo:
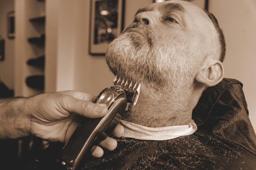
<svg viewBox="0 0 256 170">
<path fill-rule="evenodd" d="M 141 29 L 144 36 L 125 32 L 134 27 Z M 189 54 L 186 54 L 182 40 L 175 36 L 171 38 L 172 44 L 159 42 L 150 26 L 133 23 L 110 43 L 106 63 L 115 75 L 141 82 L 148 88 L 187 87 L 193 83 L 193 66 L 184 61 Z"/>
</svg>

